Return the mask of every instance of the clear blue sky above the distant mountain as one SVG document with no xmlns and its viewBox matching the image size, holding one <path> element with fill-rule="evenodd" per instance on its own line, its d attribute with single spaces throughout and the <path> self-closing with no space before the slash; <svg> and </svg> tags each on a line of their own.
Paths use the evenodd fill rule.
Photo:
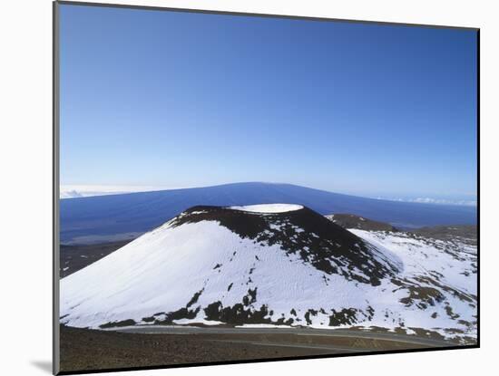
<svg viewBox="0 0 499 376">
<path fill-rule="evenodd" d="M 475 198 L 475 32 L 61 6 L 61 183 Z"/>
</svg>

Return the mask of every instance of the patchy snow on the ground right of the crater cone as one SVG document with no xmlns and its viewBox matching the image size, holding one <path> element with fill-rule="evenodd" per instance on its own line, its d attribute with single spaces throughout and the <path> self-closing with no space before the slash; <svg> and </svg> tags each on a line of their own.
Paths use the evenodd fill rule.
<svg viewBox="0 0 499 376">
<path fill-rule="evenodd" d="M 399 275 L 399 278 L 409 281 L 416 281 L 416 278 L 430 278 L 436 280 L 437 284 L 428 283 L 427 287 L 436 288 L 440 294 L 445 296 L 445 302 L 449 304 L 453 312 L 458 314 L 458 320 L 466 321 L 469 323 L 475 322 L 474 316 L 476 315 L 476 302 L 474 296 L 476 295 L 477 279 L 474 273 L 476 265 L 476 255 L 468 254 L 465 252 L 463 245 L 456 246 L 451 242 L 443 241 L 428 241 L 422 237 L 411 237 L 404 233 L 388 233 L 383 231 L 365 231 L 358 229 L 350 229 L 352 233 L 363 238 L 367 243 L 385 248 L 387 251 L 392 252 L 398 256 L 404 269 Z M 435 279 L 435 272 L 439 277 Z M 468 275 L 465 275 L 468 273 Z M 426 286 L 426 284 L 421 284 Z M 393 290 L 393 285 L 390 286 L 389 281 L 379 286 L 382 289 Z M 472 303 L 464 302 L 453 294 L 453 291 L 446 291 L 446 289 L 453 289 L 455 292 L 465 295 L 472 300 Z M 391 299 L 392 295 L 399 298 L 404 297 L 405 289 L 394 290 L 394 294 L 386 296 L 379 295 L 377 302 L 382 299 L 386 301 Z M 387 302 L 386 302 L 387 303 Z M 373 305 L 375 309 L 382 308 L 381 305 Z M 476 326 L 472 325 L 471 328 L 466 327 L 465 324 L 456 323 L 445 311 L 445 304 L 435 304 L 429 306 L 426 310 L 417 309 L 414 307 L 405 307 L 401 310 L 396 307 L 396 304 L 386 304 L 386 307 L 396 312 L 403 319 L 406 327 L 418 327 L 433 330 L 444 336 L 445 329 L 456 328 L 462 330 L 465 335 L 476 337 Z M 430 313 L 436 313 L 437 317 L 433 318 Z M 377 323 L 373 323 L 377 325 Z M 386 326 L 386 325 L 379 325 Z"/>
</svg>

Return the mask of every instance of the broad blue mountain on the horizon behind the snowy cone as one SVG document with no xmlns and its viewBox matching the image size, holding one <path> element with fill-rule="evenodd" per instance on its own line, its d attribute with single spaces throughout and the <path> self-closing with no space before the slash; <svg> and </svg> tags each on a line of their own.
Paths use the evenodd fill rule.
<svg viewBox="0 0 499 376">
<path fill-rule="evenodd" d="M 290 184 L 235 183 L 61 200 L 61 241 L 91 244 L 134 238 L 196 205 L 237 206 L 283 202 L 322 215 L 352 213 L 395 227 L 474 225 L 476 207 L 458 207 L 331 193 Z"/>
</svg>

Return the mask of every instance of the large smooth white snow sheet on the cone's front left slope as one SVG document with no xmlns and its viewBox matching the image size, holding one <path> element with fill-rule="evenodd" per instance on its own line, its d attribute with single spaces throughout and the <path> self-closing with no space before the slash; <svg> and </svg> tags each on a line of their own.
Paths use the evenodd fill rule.
<svg viewBox="0 0 499 376">
<path fill-rule="evenodd" d="M 269 304 L 277 319 L 292 308 L 302 317 L 309 308 L 340 310 L 364 294 L 340 275 L 327 275 L 335 286 L 328 288 L 323 275 L 299 255 L 286 255 L 279 245 L 259 246 L 217 222 L 167 225 L 62 279 L 60 315 L 67 314 L 64 323 L 82 327 L 131 318 L 141 322 L 153 313 L 185 307 L 202 289 L 191 308 L 217 301 L 238 304 L 257 287 L 255 308 Z M 192 322 L 204 318 L 201 314 Z"/>
</svg>

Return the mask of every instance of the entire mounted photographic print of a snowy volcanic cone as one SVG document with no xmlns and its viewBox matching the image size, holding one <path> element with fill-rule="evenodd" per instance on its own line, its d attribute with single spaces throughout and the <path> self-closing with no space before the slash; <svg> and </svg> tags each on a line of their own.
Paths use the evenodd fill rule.
<svg viewBox="0 0 499 376">
<path fill-rule="evenodd" d="M 54 3 L 54 373 L 478 347 L 478 49 Z"/>
</svg>

